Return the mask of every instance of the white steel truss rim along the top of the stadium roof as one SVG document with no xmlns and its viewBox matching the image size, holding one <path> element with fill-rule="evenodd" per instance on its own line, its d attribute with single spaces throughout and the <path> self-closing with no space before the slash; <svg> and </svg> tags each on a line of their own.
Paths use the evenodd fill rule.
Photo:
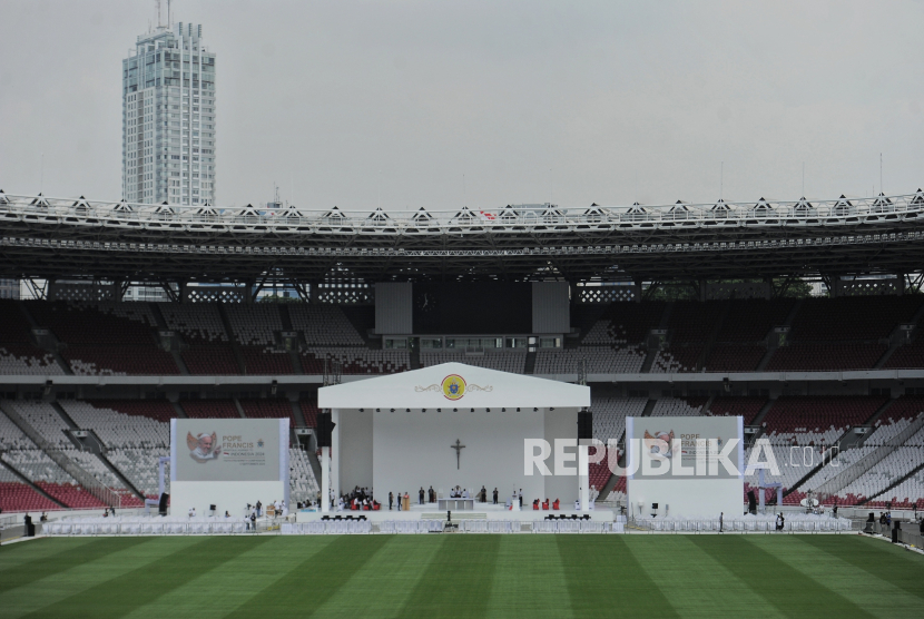
<svg viewBox="0 0 924 619">
<path fill-rule="evenodd" d="M 717 228 L 739 224 L 826 226 L 836 223 L 901 220 L 924 212 L 924 194 L 756 203 L 684 204 L 657 206 L 609 206 L 562 208 L 552 204 L 523 205 L 501 209 L 442 209 L 432 212 L 382 210 L 345 213 L 294 207 L 261 210 L 186 205 L 129 204 L 73 198 L 0 194 L 0 217 L 63 219 L 72 225 L 122 226 L 183 229 L 194 224 L 199 230 L 266 232 L 267 228 L 350 228 L 372 233 L 460 232 L 498 228 L 562 228 L 649 226 L 682 228 L 709 225 Z M 305 230 L 298 230 L 305 232 Z"/>
</svg>

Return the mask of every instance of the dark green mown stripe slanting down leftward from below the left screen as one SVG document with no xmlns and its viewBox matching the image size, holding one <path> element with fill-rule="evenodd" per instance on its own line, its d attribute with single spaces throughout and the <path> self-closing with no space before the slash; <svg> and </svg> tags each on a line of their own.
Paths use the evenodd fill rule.
<svg viewBox="0 0 924 619">
<path fill-rule="evenodd" d="M 43 607 L 28 617 L 122 617 L 200 574 L 272 538 L 195 538 L 196 542 L 166 557 L 100 582 L 80 593 Z"/>
</svg>

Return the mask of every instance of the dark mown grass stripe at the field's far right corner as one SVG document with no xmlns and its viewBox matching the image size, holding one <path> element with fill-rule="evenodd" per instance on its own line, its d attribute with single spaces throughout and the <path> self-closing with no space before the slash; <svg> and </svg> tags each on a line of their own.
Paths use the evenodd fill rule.
<svg viewBox="0 0 924 619">
<path fill-rule="evenodd" d="M 837 557 L 869 576 L 924 598 L 924 557 L 881 540 L 842 536 L 802 536 L 799 541 Z"/>
</svg>

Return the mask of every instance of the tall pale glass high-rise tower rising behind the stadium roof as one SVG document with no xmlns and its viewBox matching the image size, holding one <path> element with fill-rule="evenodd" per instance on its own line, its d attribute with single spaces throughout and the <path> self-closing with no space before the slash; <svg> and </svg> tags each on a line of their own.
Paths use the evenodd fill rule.
<svg viewBox="0 0 924 619">
<path fill-rule="evenodd" d="M 215 55 L 201 38 L 201 26 L 158 26 L 122 60 L 128 202 L 215 203 Z"/>
</svg>

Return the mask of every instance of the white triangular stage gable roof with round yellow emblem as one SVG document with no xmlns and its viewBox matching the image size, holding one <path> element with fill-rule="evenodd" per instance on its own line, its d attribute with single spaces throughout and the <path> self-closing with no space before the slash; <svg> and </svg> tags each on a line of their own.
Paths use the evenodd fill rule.
<svg viewBox="0 0 924 619">
<path fill-rule="evenodd" d="M 590 387 L 443 363 L 317 390 L 322 409 L 517 409 L 590 406 Z"/>
</svg>

